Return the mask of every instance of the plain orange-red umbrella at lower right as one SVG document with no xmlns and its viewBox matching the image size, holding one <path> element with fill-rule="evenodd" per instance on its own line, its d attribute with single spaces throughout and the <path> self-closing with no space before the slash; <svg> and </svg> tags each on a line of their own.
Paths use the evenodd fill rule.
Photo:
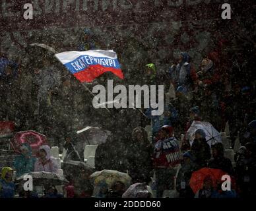
<svg viewBox="0 0 256 211">
<path fill-rule="evenodd" d="M 210 169 L 210 168 L 204 167 L 203 169 L 200 169 L 192 173 L 189 185 L 193 190 L 193 192 L 197 193 L 197 191 L 199 191 L 200 189 L 203 189 L 203 183 L 205 178 L 210 177 L 212 179 L 213 188 L 216 188 L 219 183 L 224 182 L 221 180 L 223 175 L 228 175 L 228 173 L 225 173 L 220 169 Z M 232 177 L 231 177 L 231 182 L 232 182 L 232 186 L 234 187 L 235 181 Z"/>
</svg>

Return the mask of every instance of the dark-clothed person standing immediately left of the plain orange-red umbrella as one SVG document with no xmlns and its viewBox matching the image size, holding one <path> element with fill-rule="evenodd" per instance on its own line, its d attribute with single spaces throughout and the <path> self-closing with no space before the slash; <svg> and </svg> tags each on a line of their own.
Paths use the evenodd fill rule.
<svg viewBox="0 0 256 211">
<path fill-rule="evenodd" d="M 193 162 L 194 158 L 190 151 L 183 154 L 181 168 L 177 174 L 176 190 L 179 192 L 179 198 L 193 198 L 194 193 L 189 186 L 193 171 L 197 171 L 198 166 Z"/>
</svg>

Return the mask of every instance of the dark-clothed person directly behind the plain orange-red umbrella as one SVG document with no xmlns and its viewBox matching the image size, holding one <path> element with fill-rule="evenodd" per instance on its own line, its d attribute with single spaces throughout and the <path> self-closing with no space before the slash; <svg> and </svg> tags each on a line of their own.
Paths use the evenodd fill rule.
<svg viewBox="0 0 256 211">
<path fill-rule="evenodd" d="M 229 175 L 234 175 L 231 160 L 224 157 L 224 147 L 222 143 L 212 145 L 212 159 L 208 162 L 208 167 L 221 169 Z"/>
</svg>

